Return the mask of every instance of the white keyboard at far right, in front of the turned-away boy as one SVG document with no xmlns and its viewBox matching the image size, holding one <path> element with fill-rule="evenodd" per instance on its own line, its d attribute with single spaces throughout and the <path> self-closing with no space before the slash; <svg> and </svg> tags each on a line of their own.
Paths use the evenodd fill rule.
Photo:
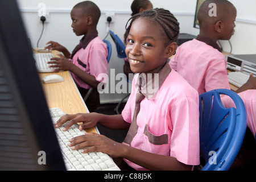
<svg viewBox="0 0 256 182">
<path fill-rule="evenodd" d="M 240 88 L 243 84 L 245 84 L 250 75 L 247 75 L 246 73 L 243 72 L 230 72 L 228 73 L 228 79 L 230 84 L 233 84 Z"/>
</svg>

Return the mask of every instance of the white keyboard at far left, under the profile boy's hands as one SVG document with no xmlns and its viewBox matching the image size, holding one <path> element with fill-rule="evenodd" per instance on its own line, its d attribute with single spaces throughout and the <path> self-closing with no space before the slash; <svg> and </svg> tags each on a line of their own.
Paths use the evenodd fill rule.
<svg viewBox="0 0 256 182">
<path fill-rule="evenodd" d="M 54 72 L 53 69 L 55 68 L 48 67 L 53 64 L 47 64 L 47 61 L 50 61 L 53 57 L 52 53 L 34 53 L 33 56 L 36 61 L 36 68 L 38 69 L 38 72 Z"/>
</svg>

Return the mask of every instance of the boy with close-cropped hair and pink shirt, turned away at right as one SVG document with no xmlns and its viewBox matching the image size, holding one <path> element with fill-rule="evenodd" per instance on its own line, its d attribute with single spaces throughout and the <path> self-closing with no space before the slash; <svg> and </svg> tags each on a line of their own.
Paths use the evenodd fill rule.
<svg viewBox="0 0 256 182">
<path fill-rule="evenodd" d="M 210 3 L 215 3 L 217 16 L 209 16 Z M 181 44 L 169 64 L 195 88 L 199 94 L 213 89 L 230 89 L 226 59 L 216 43 L 217 40 L 229 40 L 234 34 L 234 21 L 237 10 L 229 1 L 207 0 L 198 12 L 200 33 L 196 39 Z M 236 93 L 242 98 L 247 112 L 247 126 L 255 136 L 256 130 L 256 77 L 249 80 Z M 225 99 L 224 99 L 225 98 Z M 226 107 L 234 103 L 223 97 Z"/>
</svg>

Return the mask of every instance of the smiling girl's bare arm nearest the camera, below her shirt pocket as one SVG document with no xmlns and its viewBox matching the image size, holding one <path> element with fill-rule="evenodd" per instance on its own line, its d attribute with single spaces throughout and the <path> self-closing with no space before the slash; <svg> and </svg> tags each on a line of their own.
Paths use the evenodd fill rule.
<svg viewBox="0 0 256 182">
<path fill-rule="evenodd" d="M 163 156 L 152 154 L 137 148 L 118 143 L 94 133 L 86 133 L 85 135 L 75 137 L 70 140 L 69 147 L 72 150 L 85 148 L 82 152 L 101 151 L 113 158 L 125 158 L 133 163 L 138 164 L 150 170 L 190 170 L 192 166 L 180 163 L 176 158 L 171 156 Z"/>
</svg>

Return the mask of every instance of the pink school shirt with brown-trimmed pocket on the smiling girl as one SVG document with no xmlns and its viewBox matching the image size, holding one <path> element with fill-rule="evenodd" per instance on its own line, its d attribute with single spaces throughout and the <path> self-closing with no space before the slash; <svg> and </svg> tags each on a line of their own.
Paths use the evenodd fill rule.
<svg viewBox="0 0 256 182">
<path fill-rule="evenodd" d="M 122 111 L 123 119 L 131 123 L 138 86 L 138 74 L 134 76 L 130 97 Z M 137 116 L 138 132 L 130 146 L 159 155 L 172 156 L 181 163 L 198 165 L 200 163 L 199 146 L 199 96 L 187 81 L 174 70 L 160 86 L 155 99 L 146 97 L 141 101 Z M 150 137 L 166 134 L 163 144 L 152 144 Z M 124 159 L 129 166 L 137 170 L 146 170 Z"/>
</svg>

